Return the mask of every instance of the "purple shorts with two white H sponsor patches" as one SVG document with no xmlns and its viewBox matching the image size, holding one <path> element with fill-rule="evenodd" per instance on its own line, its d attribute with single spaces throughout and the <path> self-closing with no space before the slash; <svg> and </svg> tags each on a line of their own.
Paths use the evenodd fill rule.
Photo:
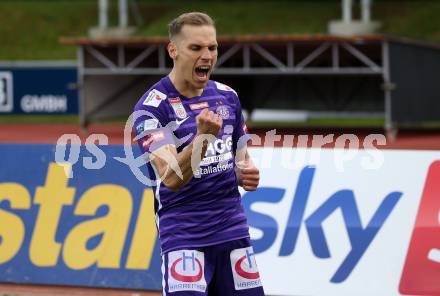
<svg viewBox="0 0 440 296">
<path fill-rule="evenodd" d="M 249 238 L 168 252 L 162 274 L 163 295 L 264 296 Z"/>
</svg>

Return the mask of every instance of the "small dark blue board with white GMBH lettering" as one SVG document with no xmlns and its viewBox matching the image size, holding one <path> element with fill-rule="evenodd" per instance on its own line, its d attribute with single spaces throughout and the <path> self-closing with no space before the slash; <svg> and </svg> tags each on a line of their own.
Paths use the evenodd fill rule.
<svg viewBox="0 0 440 296">
<path fill-rule="evenodd" d="M 78 114 L 75 66 L 0 65 L 0 114 Z"/>
</svg>

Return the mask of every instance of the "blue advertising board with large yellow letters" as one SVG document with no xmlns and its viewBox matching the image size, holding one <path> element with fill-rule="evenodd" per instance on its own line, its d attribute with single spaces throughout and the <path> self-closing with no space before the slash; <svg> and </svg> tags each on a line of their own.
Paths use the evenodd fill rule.
<svg viewBox="0 0 440 296">
<path fill-rule="evenodd" d="M 0 145 L 0 282 L 160 290 L 153 193 L 122 146 L 83 145 L 71 168 L 55 147 Z"/>
</svg>

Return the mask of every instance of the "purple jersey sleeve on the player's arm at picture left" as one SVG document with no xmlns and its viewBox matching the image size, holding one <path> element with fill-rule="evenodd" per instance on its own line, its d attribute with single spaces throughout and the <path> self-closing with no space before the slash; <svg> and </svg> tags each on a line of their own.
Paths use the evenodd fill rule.
<svg viewBox="0 0 440 296">
<path fill-rule="evenodd" d="M 165 102 L 162 102 L 164 104 Z M 160 107 L 141 105 L 135 108 L 134 134 L 142 153 L 151 153 L 158 148 L 175 145 L 174 136 L 167 128 L 166 112 Z"/>
</svg>

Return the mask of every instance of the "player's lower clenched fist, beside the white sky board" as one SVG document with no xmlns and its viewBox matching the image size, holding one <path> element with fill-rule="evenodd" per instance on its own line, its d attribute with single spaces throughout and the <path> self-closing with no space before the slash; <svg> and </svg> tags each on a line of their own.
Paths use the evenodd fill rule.
<svg viewBox="0 0 440 296">
<path fill-rule="evenodd" d="M 260 183 L 260 170 L 252 161 L 246 146 L 237 151 L 235 173 L 238 185 L 243 187 L 244 190 L 257 190 Z"/>
</svg>

